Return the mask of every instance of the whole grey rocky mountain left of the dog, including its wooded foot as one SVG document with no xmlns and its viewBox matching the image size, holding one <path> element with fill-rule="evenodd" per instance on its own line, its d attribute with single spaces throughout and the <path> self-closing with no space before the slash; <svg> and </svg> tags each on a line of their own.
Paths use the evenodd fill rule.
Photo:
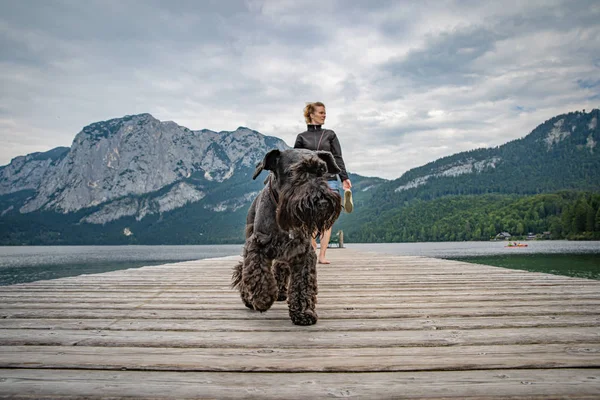
<svg viewBox="0 0 600 400">
<path fill-rule="evenodd" d="M 70 148 L 0 167 L 0 244 L 240 243 L 263 187 L 254 167 L 274 148 L 289 146 L 245 127 L 192 131 L 150 114 L 90 124 Z"/>
</svg>

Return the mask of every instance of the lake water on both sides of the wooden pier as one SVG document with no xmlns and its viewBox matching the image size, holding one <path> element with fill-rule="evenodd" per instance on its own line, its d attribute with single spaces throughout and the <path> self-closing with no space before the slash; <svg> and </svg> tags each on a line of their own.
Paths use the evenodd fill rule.
<svg viewBox="0 0 600 400">
<path fill-rule="evenodd" d="M 600 242 L 350 243 L 346 247 L 600 279 Z M 331 251 L 336 251 L 332 249 Z M 0 285 L 240 255 L 242 245 L 0 247 Z"/>
</svg>

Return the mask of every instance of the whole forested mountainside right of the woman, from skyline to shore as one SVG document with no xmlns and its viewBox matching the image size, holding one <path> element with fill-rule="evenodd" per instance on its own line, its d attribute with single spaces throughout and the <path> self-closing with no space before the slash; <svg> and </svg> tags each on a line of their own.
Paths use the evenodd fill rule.
<svg viewBox="0 0 600 400">
<path fill-rule="evenodd" d="M 599 238 L 599 119 L 597 109 L 558 115 L 521 139 L 410 170 L 336 229 L 353 242 L 489 240 L 503 231 Z"/>
</svg>

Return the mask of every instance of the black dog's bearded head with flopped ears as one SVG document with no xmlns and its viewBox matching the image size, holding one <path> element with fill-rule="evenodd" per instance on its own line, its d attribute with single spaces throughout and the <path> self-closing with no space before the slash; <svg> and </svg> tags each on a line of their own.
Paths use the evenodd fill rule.
<svg viewBox="0 0 600 400">
<path fill-rule="evenodd" d="M 271 171 L 272 189 L 278 195 L 277 223 L 281 229 L 312 234 L 329 229 L 339 217 L 342 203 L 325 174 L 340 172 L 328 151 L 271 150 L 258 163 L 252 179 Z"/>
</svg>

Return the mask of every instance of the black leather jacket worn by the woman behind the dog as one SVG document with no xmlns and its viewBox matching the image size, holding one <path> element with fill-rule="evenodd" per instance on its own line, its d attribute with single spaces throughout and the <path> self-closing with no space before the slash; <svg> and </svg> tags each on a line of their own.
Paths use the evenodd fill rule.
<svg viewBox="0 0 600 400">
<path fill-rule="evenodd" d="M 321 125 L 308 125 L 305 132 L 299 133 L 296 137 L 296 143 L 294 143 L 295 149 L 307 149 L 307 150 L 325 150 L 333 154 L 335 163 L 342 170 L 339 175 L 343 181 L 348 179 L 348 172 L 346 172 L 346 164 L 342 158 L 342 147 L 336 134 L 331 129 L 323 129 Z M 327 180 L 336 180 L 336 174 L 327 174 Z"/>
</svg>

